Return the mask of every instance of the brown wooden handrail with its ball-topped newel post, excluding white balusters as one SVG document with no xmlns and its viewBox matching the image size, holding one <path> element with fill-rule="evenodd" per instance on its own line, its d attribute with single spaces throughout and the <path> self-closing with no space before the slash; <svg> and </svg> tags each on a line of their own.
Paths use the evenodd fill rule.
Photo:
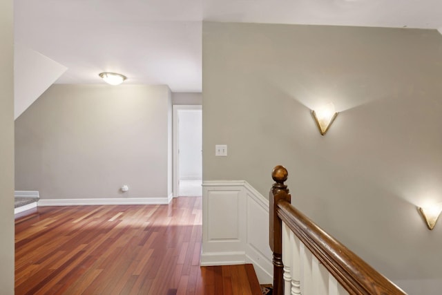
<svg viewBox="0 0 442 295">
<path fill-rule="evenodd" d="M 283 294 L 282 222 L 349 294 L 405 294 L 394 283 L 376 272 L 359 256 L 327 234 L 307 216 L 291 205 L 291 196 L 284 182 L 287 169 L 276 166 L 272 172 L 275 184 L 270 191 L 270 247 L 273 251 L 273 292 Z M 273 237 L 272 237 L 273 236 Z"/>
</svg>

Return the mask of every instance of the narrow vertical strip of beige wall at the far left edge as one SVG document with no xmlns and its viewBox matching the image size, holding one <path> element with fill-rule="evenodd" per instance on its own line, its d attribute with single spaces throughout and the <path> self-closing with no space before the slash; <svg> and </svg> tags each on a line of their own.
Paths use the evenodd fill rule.
<svg viewBox="0 0 442 295">
<path fill-rule="evenodd" d="M 0 288 L 14 294 L 14 54 L 12 1 L 0 2 Z"/>
</svg>

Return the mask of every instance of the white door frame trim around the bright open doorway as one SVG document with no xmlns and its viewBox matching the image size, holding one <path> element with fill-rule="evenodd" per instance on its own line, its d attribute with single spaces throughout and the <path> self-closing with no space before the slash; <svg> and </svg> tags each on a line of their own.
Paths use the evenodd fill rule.
<svg viewBox="0 0 442 295">
<path fill-rule="evenodd" d="M 178 197 L 178 191 L 180 189 L 180 161 L 178 157 L 179 146 L 179 134 L 178 126 L 180 124 L 178 112 L 179 111 L 202 111 L 201 104 L 174 104 L 173 105 L 173 198 Z"/>
</svg>

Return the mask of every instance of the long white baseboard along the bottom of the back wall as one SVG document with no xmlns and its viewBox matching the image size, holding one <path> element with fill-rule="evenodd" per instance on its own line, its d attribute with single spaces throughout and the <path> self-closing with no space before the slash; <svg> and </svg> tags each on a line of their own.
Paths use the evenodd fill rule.
<svg viewBox="0 0 442 295">
<path fill-rule="evenodd" d="M 88 205 L 137 205 L 169 204 L 172 194 L 167 198 L 95 198 L 95 199 L 40 199 L 39 207 L 45 206 L 88 206 Z"/>
</svg>

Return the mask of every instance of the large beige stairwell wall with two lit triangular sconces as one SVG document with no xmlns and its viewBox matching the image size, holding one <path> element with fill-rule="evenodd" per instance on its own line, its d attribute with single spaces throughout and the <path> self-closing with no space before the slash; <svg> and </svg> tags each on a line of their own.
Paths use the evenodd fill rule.
<svg viewBox="0 0 442 295">
<path fill-rule="evenodd" d="M 292 202 L 394 280 L 441 279 L 442 37 L 436 30 L 203 24 L 203 178 Z M 310 109 L 340 111 L 322 137 Z M 215 157 L 215 144 L 229 156 Z"/>
</svg>

